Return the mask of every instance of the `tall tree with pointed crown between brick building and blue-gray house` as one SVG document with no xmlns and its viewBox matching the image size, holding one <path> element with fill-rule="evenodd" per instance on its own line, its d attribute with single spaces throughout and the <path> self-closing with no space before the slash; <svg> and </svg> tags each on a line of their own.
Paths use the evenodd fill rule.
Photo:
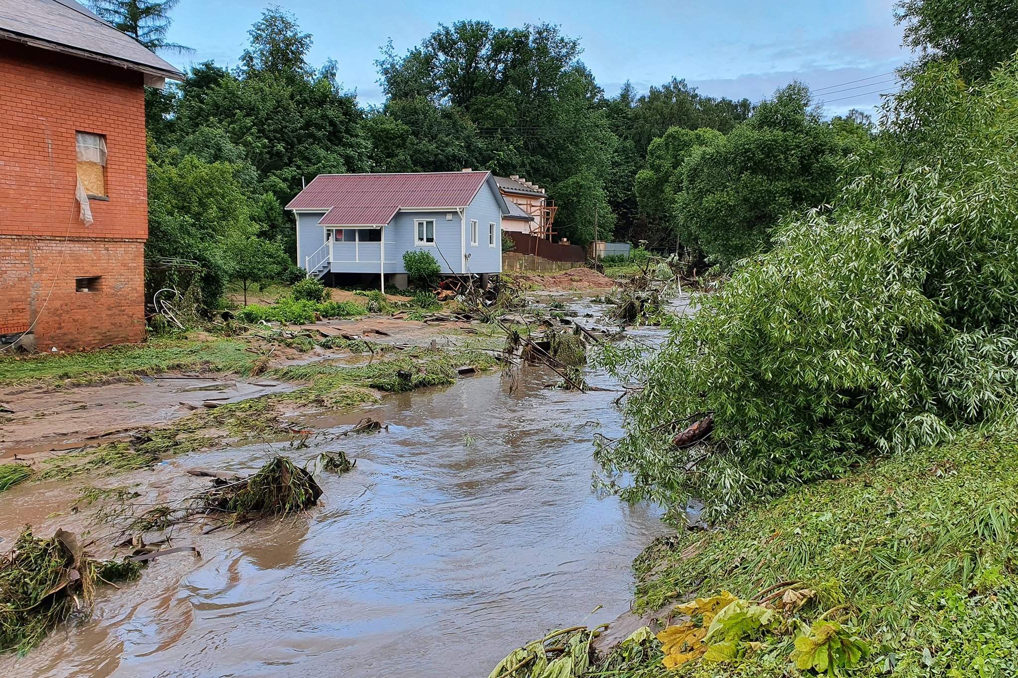
<svg viewBox="0 0 1018 678">
<path fill-rule="evenodd" d="M 281 205 L 319 174 L 371 169 L 370 141 L 335 63 L 318 71 L 307 64 L 310 37 L 292 15 L 270 8 L 249 35 L 235 73 L 211 62 L 191 70 L 180 86 L 170 141 L 207 162 L 235 166 L 258 202 L 252 211 L 263 236 L 292 255 L 293 228 Z"/>
</svg>

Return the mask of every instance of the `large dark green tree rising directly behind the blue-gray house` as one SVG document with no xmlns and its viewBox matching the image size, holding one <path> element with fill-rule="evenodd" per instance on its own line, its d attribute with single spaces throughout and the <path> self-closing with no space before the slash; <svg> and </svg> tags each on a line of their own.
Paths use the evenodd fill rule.
<svg viewBox="0 0 1018 678">
<path fill-rule="evenodd" d="M 376 166 L 469 166 L 525 176 L 552 186 L 560 236 L 589 239 L 572 230 L 592 227 L 585 225 L 584 213 L 573 213 L 592 212 L 592 204 L 574 199 L 579 178 L 604 194 L 613 179 L 618 138 L 580 52 L 578 41 L 547 23 L 497 28 L 485 21 L 457 21 L 440 25 L 402 57 L 390 44 L 377 62 L 389 97 L 383 113 L 405 125 L 411 138 L 394 142 L 396 127 L 390 120 L 370 122 L 370 133 L 385 140 Z M 612 185 L 627 183 L 631 179 Z M 556 193 L 562 184 L 570 195 Z M 611 205 L 601 208 L 610 224 Z"/>
</svg>

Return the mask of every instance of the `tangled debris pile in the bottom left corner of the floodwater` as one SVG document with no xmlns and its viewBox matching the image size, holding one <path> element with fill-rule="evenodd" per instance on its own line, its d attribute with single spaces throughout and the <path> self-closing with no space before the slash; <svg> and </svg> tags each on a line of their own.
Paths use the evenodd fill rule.
<svg viewBox="0 0 1018 678">
<path fill-rule="evenodd" d="M 0 560 L 0 653 L 21 655 L 58 625 L 87 619 L 96 582 L 135 578 L 138 563 L 96 561 L 73 534 L 38 538 L 26 526 Z"/>
</svg>

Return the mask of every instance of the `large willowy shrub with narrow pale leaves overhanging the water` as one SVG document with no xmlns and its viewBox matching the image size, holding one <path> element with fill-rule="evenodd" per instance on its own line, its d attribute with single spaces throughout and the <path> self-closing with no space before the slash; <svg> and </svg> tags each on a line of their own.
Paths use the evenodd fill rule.
<svg viewBox="0 0 1018 678">
<path fill-rule="evenodd" d="M 776 247 L 630 361 L 626 435 L 603 445 L 630 497 L 718 517 L 874 453 L 992 418 L 1018 384 L 1018 73 L 981 90 L 938 66 L 887 105 L 889 153 L 834 209 L 792 214 Z M 942 168 L 950 168 L 945 170 Z M 677 446 L 713 414 L 710 441 Z"/>
</svg>

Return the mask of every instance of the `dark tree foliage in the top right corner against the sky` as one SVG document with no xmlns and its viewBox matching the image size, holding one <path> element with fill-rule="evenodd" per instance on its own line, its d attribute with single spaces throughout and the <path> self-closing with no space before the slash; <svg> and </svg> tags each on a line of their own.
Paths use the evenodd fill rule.
<svg viewBox="0 0 1018 678">
<path fill-rule="evenodd" d="M 985 79 L 1018 50 L 1018 4 L 1011 0 L 899 0 L 895 20 L 918 59 L 912 72 L 939 59 L 957 59 L 967 81 Z"/>
</svg>

